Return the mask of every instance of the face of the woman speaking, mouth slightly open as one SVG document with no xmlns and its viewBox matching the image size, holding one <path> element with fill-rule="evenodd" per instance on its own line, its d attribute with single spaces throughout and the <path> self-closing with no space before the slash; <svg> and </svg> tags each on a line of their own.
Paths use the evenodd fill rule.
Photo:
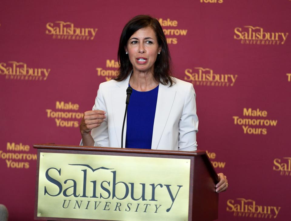
<svg viewBox="0 0 291 221">
<path fill-rule="evenodd" d="M 150 71 L 153 74 L 154 64 L 158 53 L 161 52 L 155 31 L 150 28 L 141 28 L 129 38 L 125 51 L 133 71 Z"/>
</svg>

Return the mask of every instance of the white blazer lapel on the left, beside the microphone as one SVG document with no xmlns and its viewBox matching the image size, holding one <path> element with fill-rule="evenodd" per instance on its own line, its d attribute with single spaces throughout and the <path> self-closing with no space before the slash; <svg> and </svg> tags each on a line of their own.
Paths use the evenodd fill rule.
<svg viewBox="0 0 291 221">
<path fill-rule="evenodd" d="M 122 124 L 125 113 L 125 100 L 126 100 L 126 89 L 129 84 L 130 75 L 123 81 L 116 82 L 116 88 L 112 90 L 112 107 L 113 107 L 113 122 L 115 128 L 116 139 L 119 147 L 121 147 L 121 133 Z M 125 137 L 126 137 L 126 119 L 123 131 L 123 147 L 125 147 Z"/>
</svg>

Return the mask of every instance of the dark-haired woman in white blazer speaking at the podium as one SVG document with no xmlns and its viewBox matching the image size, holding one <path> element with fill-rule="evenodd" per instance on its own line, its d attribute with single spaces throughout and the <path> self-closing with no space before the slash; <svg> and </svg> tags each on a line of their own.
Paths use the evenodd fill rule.
<svg viewBox="0 0 291 221">
<path fill-rule="evenodd" d="M 119 73 L 101 83 L 92 111 L 80 124 L 84 146 L 121 147 L 126 89 L 132 87 L 123 146 L 158 150 L 197 149 L 193 85 L 171 76 L 171 59 L 159 21 L 146 15 L 123 28 L 118 49 Z M 91 132 L 91 133 L 90 133 Z M 219 174 L 216 192 L 225 191 Z"/>
</svg>

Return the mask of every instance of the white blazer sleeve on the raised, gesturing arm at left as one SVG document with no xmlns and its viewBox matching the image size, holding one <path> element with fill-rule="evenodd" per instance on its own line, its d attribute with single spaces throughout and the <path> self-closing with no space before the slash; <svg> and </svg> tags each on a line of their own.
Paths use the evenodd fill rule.
<svg viewBox="0 0 291 221">
<path fill-rule="evenodd" d="M 107 108 L 104 100 L 104 96 L 102 94 L 102 83 L 99 85 L 99 89 L 97 92 L 97 97 L 95 99 L 95 104 L 92 108 L 92 110 L 102 110 L 105 111 L 106 118 L 102 122 L 102 124 L 99 127 L 93 128 L 91 130 L 91 136 L 93 137 L 95 143 L 95 147 L 109 147 L 109 136 L 108 136 L 108 114 L 107 114 Z M 82 140 L 80 143 L 80 146 L 82 146 Z"/>
</svg>

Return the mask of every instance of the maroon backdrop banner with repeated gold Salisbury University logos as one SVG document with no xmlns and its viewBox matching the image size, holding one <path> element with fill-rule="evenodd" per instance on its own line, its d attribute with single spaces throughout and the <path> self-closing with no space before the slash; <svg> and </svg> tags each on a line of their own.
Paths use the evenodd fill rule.
<svg viewBox="0 0 291 221">
<path fill-rule="evenodd" d="M 79 145 L 82 115 L 115 76 L 122 28 L 139 14 L 159 20 L 175 77 L 194 85 L 198 149 L 230 184 L 218 220 L 290 219 L 290 0 L 5 0 L 0 10 L 9 220 L 33 220 L 33 144 Z"/>
</svg>

